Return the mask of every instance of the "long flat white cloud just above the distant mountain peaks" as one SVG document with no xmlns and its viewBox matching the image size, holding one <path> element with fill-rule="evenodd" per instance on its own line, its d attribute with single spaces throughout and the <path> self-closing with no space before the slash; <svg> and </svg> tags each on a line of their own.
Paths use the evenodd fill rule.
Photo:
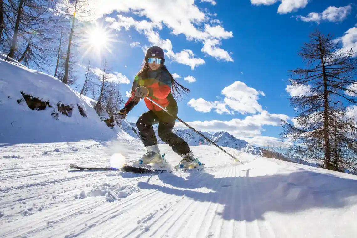
<svg viewBox="0 0 357 238">
<path fill-rule="evenodd" d="M 265 143 L 264 140 L 266 140 L 267 137 L 261 136 L 262 126 L 264 125 L 279 126 L 281 119 L 287 120 L 289 119 L 289 117 L 283 114 L 270 114 L 267 111 L 262 111 L 262 113 L 260 114 L 247 116 L 244 119 L 234 118 L 229 121 L 220 121 L 220 120 L 192 121 L 192 122 L 187 122 L 187 124 L 199 131 L 208 131 L 208 132 L 226 131 L 231 135 L 236 136 L 237 138 L 244 139 L 248 142 L 253 142 L 258 145 L 264 145 Z M 187 128 L 181 122 L 177 122 L 175 126 L 179 128 Z"/>
</svg>

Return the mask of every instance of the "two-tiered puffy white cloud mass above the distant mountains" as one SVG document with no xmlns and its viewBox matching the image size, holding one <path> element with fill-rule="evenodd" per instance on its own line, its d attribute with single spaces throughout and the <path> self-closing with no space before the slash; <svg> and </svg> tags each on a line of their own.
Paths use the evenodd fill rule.
<svg viewBox="0 0 357 238">
<path fill-rule="evenodd" d="M 262 110 L 262 106 L 257 102 L 259 95 L 265 95 L 262 91 L 248 87 L 243 82 L 234 82 L 230 86 L 223 88 L 222 95 L 225 98 L 222 101 L 207 101 L 203 98 L 191 99 L 187 105 L 196 111 L 207 113 L 215 110 L 217 113 L 233 114 L 237 111 L 242 114 L 256 113 L 248 115 L 244 119 L 234 118 L 229 121 L 211 120 L 211 121 L 192 121 L 187 122 L 196 130 L 219 132 L 226 131 L 237 138 L 246 140 L 258 146 L 269 145 L 278 142 L 278 138 L 266 137 L 261 135 L 263 126 L 280 126 L 280 121 L 290 119 L 284 114 L 269 113 Z M 185 125 L 178 122 L 176 126 L 186 128 Z"/>
</svg>

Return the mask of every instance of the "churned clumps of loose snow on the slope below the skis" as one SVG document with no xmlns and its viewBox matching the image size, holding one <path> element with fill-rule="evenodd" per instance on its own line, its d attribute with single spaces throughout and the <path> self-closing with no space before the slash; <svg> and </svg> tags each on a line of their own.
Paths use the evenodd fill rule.
<svg viewBox="0 0 357 238">
<path fill-rule="evenodd" d="M 102 183 L 102 185 L 95 185 L 90 192 L 82 191 L 79 195 L 76 195 L 75 198 L 86 198 L 86 197 L 95 197 L 102 196 L 105 197 L 105 200 L 108 202 L 119 201 L 121 198 L 125 198 L 134 192 L 140 192 L 140 189 L 133 185 L 120 185 L 116 183 L 110 185 L 109 183 Z"/>
</svg>

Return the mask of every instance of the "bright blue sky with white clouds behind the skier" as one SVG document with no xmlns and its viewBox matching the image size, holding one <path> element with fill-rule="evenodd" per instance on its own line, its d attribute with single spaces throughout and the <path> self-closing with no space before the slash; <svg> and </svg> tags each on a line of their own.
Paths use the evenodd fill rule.
<svg viewBox="0 0 357 238">
<path fill-rule="evenodd" d="M 303 66 L 298 51 L 309 34 L 318 28 L 342 37 L 341 47 L 357 48 L 357 6 L 346 0 L 121 2 L 97 8 L 97 23 L 117 41 L 111 53 L 89 53 L 83 64 L 87 57 L 94 67 L 109 61 L 112 71 L 121 73 L 127 100 L 144 50 L 159 45 L 169 71 L 191 90 L 178 101 L 178 117 L 197 130 L 225 130 L 260 146 L 277 142 L 280 118 L 295 116 L 288 98 L 300 89 L 287 90 L 287 71 Z M 140 102 L 128 119 L 135 122 L 146 110 Z"/>
</svg>

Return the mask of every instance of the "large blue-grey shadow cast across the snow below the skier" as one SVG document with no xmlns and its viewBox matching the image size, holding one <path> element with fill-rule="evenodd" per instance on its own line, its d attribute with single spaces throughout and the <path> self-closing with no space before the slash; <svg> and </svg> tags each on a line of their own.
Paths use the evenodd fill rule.
<svg viewBox="0 0 357 238">
<path fill-rule="evenodd" d="M 312 171 L 250 177 L 249 169 L 241 177 L 215 178 L 208 173 L 192 173 L 188 177 L 162 173 L 159 179 L 170 185 L 139 182 L 141 189 L 157 189 L 167 194 L 185 196 L 200 202 L 224 205 L 223 219 L 254 221 L 264 219 L 266 212 L 295 213 L 311 208 L 342 208 L 356 204 L 357 180 Z M 175 188 L 176 187 L 176 188 Z M 189 189 L 208 188 L 213 192 Z"/>
</svg>

